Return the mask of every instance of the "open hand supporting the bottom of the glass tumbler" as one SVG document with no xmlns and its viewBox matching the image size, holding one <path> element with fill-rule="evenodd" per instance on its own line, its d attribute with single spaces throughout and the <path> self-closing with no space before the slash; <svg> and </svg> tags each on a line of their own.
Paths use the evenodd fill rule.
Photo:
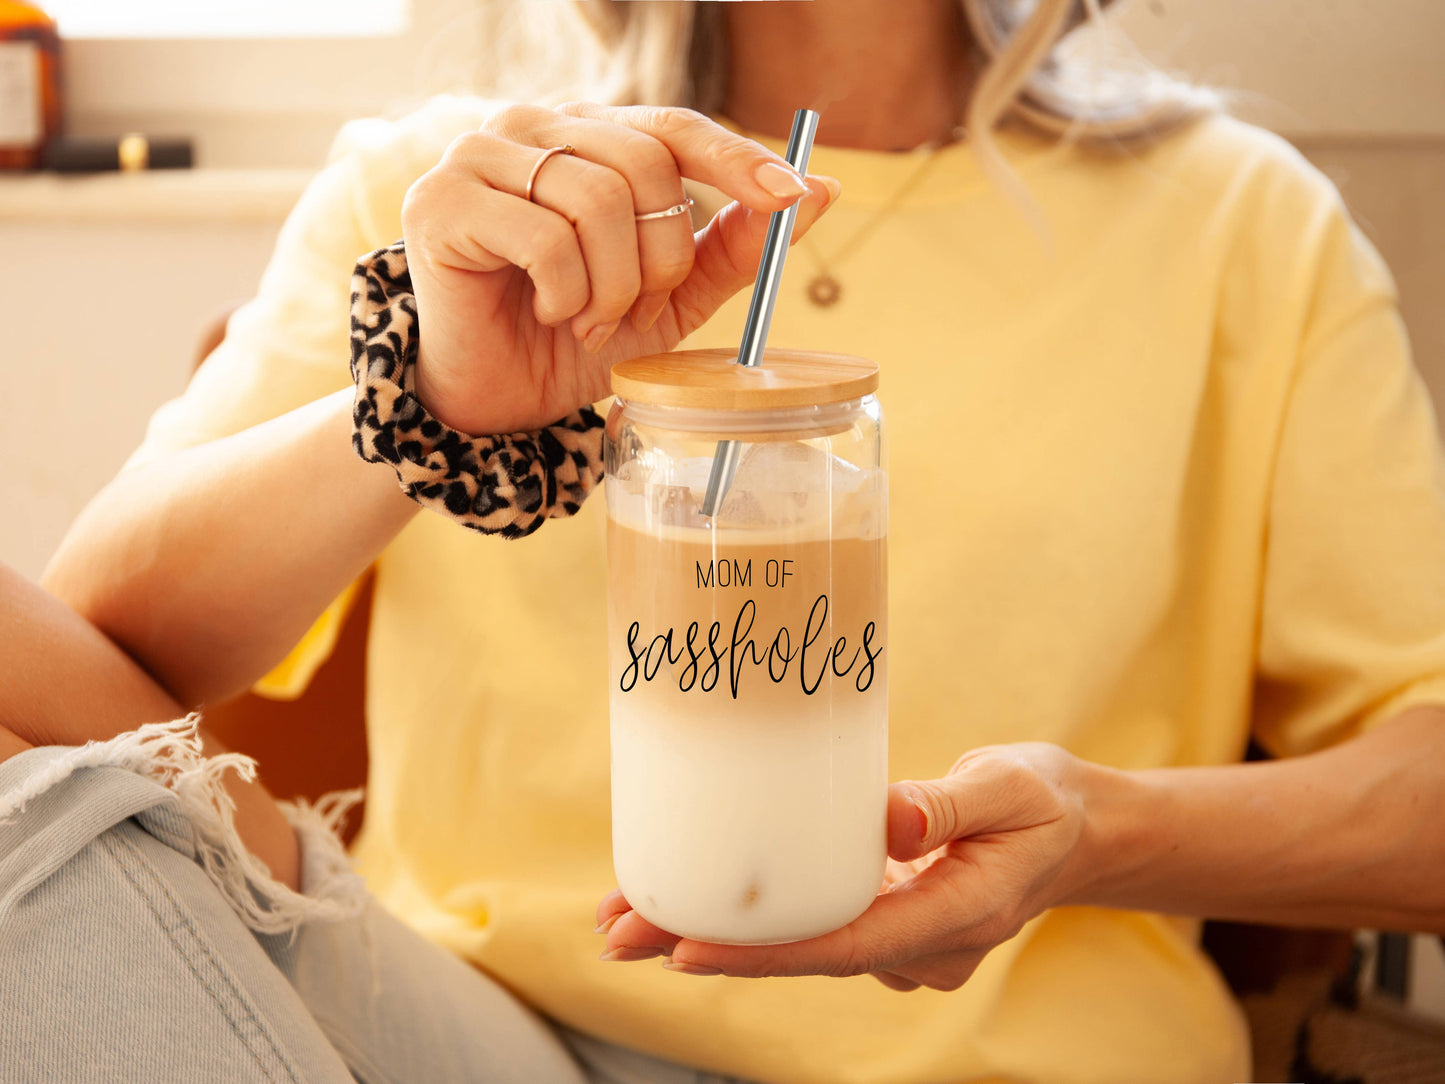
<svg viewBox="0 0 1445 1084">
<path fill-rule="evenodd" d="M 785 945 L 688 941 L 613 892 L 597 909 L 603 958 L 665 955 L 665 967 L 688 974 L 871 974 L 894 990 L 955 990 L 994 945 L 1065 898 L 1092 767 L 1058 746 L 988 746 L 942 779 L 894 783 L 883 887 L 842 929 Z"/>
</svg>

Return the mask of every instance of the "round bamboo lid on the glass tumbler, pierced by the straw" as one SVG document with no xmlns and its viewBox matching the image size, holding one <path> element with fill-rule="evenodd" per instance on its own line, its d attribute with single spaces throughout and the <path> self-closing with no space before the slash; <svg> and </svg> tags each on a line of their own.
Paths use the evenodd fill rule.
<svg viewBox="0 0 1445 1084">
<path fill-rule="evenodd" d="M 763 364 L 734 363 L 733 350 L 675 350 L 613 366 L 613 395 L 699 410 L 770 410 L 844 403 L 877 390 L 876 363 L 814 350 L 763 351 Z"/>
</svg>

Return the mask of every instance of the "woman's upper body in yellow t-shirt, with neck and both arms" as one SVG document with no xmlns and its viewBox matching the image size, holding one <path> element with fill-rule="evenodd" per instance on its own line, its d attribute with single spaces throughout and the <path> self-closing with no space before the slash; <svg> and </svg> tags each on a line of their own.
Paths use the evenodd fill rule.
<svg viewBox="0 0 1445 1084">
<path fill-rule="evenodd" d="M 1072 6 L 990 65 L 1010 9 L 965 10 L 728 4 L 725 78 L 692 53 L 721 127 L 452 101 L 353 130 L 49 571 L 194 704 L 305 637 L 303 682 L 341 607 L 308 626 L 374 565 L 361 869 L 598 1072 L 637 1051 L 766 1081 L 1244 1080 L 1198 916 L 1445 926 L 1445 502 L 1387 273 L 1293 152 L 1176 88 L 1090 114 L 1152 142 L 1040 134 L 1088 113 L 1039 68 Z M 819 98 L 812 166 L 848 195 L 809 182 L 801 221 L 829 210 L 770 341 L 881 363 L 892 770 L 932 782 L 894 788 L 897 883 L 848 929 L 679 944 L 613 896 L 597 963 L 598 502 L 523 542 L 415 515 L 345 447 L 347 273 L 405 234 L 420 402 L 473 435 L 548 425 L 623 357 L 737 341 L 766 212 L 802 182 L 734 136 L 776 150 Z M 1033 127 L 990 137 L 1006 108 Z M 695 238 L 629 218 L 683 179 L 736 202 Z M 1250 734 L 1292 759 L 1235 765 Z M 740 978 L 617 963 L 655 955 Z M 881 984 L 746 978 L 861 973 Z"/>
</svg>

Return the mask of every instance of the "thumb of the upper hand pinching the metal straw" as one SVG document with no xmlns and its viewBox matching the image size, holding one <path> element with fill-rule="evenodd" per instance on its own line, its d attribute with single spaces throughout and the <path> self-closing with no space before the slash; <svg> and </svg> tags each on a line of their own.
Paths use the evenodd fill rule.
<svg viewBox="0 0 1445 1084">
<path fill-rule="evenodd" d="M 818 217 L 838 201 L 842 185 L 831 176 L 809 175 L 808 195 L 798 202 L 793 241 L 808 233 Z M 682 338 L 757 278 L 757 263 L 767 240 L 767 211 L 731 202 L 718 211 L 698 234 L 692 272 L 672 292 Z"/>
</svg>

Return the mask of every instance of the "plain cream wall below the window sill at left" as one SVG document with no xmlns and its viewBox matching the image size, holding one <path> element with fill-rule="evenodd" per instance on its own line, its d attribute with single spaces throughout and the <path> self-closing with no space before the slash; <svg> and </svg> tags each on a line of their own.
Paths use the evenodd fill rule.
<svg viewBox="0 0 1445 1084">
<path fill-rule="evenodd" d="M 0 181 L 0 207 L 14 184 Z M 0 463 L 9 464 L 0 559 L 39 575 L 69 522 L 140 442 L 155 406 L 184 387 L 205 325 L 256 289 L 279 224 L 275 210 L 262 210 L 192 217 L 158 208 L 121 221 L 0 214 L 10 309 L 0 370 L 12 408 L 0 425 Z"/>
</svg>

